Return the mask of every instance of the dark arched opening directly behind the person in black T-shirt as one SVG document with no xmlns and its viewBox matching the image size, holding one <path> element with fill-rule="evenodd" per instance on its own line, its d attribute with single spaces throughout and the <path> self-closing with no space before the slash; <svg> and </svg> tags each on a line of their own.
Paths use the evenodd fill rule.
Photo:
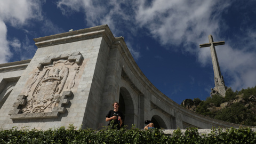
<svg viewBox="0 0 256 144">
<path fill-rule="evenodd" d="M 134 124 L 134 104 L 131 94 L 125 87 L 120 88 L 119 104 L 119 110 L 125 115 L 124 125 L 131 127 Z"/>
</svg>

